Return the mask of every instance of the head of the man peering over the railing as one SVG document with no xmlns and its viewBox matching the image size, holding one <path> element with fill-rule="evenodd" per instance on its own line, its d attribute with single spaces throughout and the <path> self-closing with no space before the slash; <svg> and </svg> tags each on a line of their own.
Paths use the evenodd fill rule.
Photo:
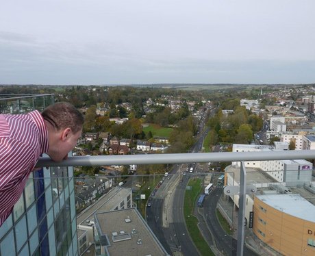
<svg viewBox="0 0 315 256">
<path fill-rule="evenodd" d="M 81 136 L 84 117 L 73 105 L 59 102 L 49 105 L 42 117 L 49 135 L 48 155 L 55 162 L 66 159 Z"/>
</svg>

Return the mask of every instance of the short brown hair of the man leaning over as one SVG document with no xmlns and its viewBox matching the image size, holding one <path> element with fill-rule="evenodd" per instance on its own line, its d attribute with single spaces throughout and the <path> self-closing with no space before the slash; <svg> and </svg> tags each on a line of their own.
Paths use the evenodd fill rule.
<svg viewBox="0 0 315 256">
<path fill-rule="evenodd" d="M 42 112 L 42 117 L 55 129 L 70 128 L 73 133 L 82 129 L 84 117 L 73 105 L 67 102 L 58 102 L 49 105 Z"/>
</svg>

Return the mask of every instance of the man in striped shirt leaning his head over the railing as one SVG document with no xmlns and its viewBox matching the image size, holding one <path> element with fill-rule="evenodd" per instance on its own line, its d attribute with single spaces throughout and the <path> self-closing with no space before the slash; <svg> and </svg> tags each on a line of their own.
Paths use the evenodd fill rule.
<svg viewBox="0 0 315 256">
<path fill-rule="evenodd" d="M 0 226 L 10 216 L 42 153 L 55 162 L 67 158 L 81 136 L 84 118 L 60 102 L 28 114 L 0 114 Z"/>
</svg>

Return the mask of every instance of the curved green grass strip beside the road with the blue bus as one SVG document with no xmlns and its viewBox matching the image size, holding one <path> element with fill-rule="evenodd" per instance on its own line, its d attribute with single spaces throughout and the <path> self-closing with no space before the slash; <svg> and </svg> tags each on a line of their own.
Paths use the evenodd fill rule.
<svg viewBox="0 0 315 256">
<path fill-rule="evenodd" d="M 214 255 L 199 231 L 198 219 L 192 215 L 194 202 L 201 191 L 201 179 L 190 179 L 188 186 L 192 187 L 192 190 L 186 190 L 184 201 L 184 216 L 188 232 L 201 255 Z"/>
</svg>

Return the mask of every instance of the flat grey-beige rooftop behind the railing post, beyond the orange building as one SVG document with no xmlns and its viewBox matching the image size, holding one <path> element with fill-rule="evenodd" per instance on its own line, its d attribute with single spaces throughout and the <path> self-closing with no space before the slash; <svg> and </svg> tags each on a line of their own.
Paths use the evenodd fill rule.
<svg viewBox="0 0 315 256">
<path fill-rule="evenodd" d="M 258 168 L 246 168 L 246 183 L 247 184 L 255 184 L 255 183 L 275 183 L 278 182 L 273 177 L 269 177 L 268 174 L 264 173 L 262 170 Z M 240 183 L 240 167 L 238 166 L 227 166 L 225 168 L 225 172 L 229 174 L 234 173 L 234 180 L 237 183 Z"/>
</svg>

